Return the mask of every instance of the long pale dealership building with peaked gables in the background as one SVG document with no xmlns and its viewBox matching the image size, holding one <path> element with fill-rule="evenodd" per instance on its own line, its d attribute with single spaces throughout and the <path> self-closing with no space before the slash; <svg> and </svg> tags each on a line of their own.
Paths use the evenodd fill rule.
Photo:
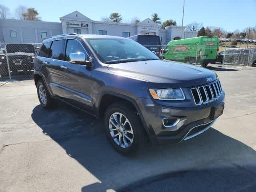
<svg viewBox="0 0 256 192">
<path fill-rule="evenodd" d="M 138 24 L 94 21 L 78 11 L 63 17 L 58 22 L 0 19 L 0 42 L 40 43 L 58 34 L 104 34 L 113 36 L 133 36 L 136 34 L 159 35 L 162 44 L 181 38 L 181 26 L 161 26 L 147 18 Z M 183 38 L 191 38 L 197 32 L 187 32 L 183 27 Z"/>
</svg>

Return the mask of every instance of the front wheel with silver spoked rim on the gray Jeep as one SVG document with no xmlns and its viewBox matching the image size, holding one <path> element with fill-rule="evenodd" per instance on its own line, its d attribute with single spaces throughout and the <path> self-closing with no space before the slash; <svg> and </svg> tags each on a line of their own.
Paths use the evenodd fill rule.
<svg viewBox="0 0 256 192">
<path fill-rule="evenodd" d="M 121 125 L 120 114 L 122 114 Z M 126 119 L 129 122 L 124 122 Z M 142 142 L 144 142 L 143 127 L 140 118 L 126 102 L 114 103 L 107 108 L 104 114 L 104 128 L 108 141 L 121 154 L 134 154 Z"/>
</svg>

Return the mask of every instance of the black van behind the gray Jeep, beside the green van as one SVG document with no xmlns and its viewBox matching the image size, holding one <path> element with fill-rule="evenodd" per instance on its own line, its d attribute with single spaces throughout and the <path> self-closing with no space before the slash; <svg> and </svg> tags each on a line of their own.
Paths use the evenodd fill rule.
<svg viewBox="0 0 256 192">
<path fill-rule="evenodd" d="M 158 57 L 160 56 L 160 50 L 162 48 L 160 36 L 140 34 L 140 35 L 130 36 L 128 38 L 143 45 L 150 51 L 154 52 Z"/>
</svg>

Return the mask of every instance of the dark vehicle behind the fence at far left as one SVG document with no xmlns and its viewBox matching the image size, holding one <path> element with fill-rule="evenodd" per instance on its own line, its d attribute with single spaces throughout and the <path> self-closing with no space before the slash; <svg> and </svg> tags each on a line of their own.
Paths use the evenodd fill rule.
<svg viewBox="0 0 256 192">
<path fill-rule="evenodd" d="M 36 50 L 33 44 L 6 44 L 6 52 L 12 73 L 34 69 L 33 59 Z"/>
</svg>

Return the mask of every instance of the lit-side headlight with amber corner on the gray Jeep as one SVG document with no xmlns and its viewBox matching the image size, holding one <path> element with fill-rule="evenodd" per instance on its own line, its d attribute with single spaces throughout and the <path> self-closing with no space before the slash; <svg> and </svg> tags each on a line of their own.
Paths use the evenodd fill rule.
<svg viewBox="0 0 256 192">
<path fill-rule="evenodd" d="M 154 99 L 158 100 L 184 100 L 185 96 L 181 88 L 177 89 L 149 89 Z"/>
</svg>

